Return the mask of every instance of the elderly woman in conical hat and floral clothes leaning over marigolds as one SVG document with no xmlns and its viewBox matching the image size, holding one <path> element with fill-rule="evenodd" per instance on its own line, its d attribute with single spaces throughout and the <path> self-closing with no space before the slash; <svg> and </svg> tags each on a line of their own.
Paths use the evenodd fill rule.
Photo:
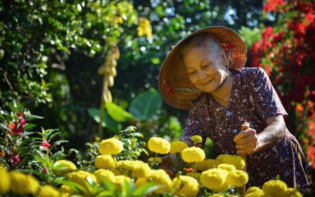
<svg viewBox="0 0 315 197">
<path fill-rule="evenodd" d="M 247 155 L 247 187 L 277 175 L 288 187 L 308 186 L 301 146 L 284 123 L 287 112 L 266 72 L 243 68 L 247 50 L 232 29 L 212 26 L 193 32 L 167 55 L 159 74 L 170 106 L 189 110 L 180 140 L 213 141 L 220 154 Z M 241 130 L 242 124 L 250 127 Z"/>
</svg>

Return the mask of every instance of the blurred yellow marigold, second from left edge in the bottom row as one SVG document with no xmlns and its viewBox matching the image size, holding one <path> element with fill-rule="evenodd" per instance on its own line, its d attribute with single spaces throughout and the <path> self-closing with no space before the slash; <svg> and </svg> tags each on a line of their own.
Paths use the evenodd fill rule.
<svg viewBox="0 0 315 197">
<path fill-rule="evenodd" d="M 15 194 L 35 194 L 39 188 L 39 181 L 31 174 L 11 171 L 11 191 Z"/>
</svg>

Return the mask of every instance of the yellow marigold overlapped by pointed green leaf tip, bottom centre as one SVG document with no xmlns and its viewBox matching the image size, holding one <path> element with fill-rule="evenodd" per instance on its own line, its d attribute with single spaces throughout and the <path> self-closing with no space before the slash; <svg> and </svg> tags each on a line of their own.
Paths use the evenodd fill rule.
<svg viewBox="0 0 315 197">
<path fill-rule="evenodd" d="M 172 180 L 169 175 L 162 169 L 152 170 L 151 173 L 147 176 L 150 181 L 153 181 L 157 184 L 164 185 L 162 188 L 158 188 L 154 191 L 156 194 L 162 194 L 163 192 L 169 191 L 172 186 Z"/>
</svg>

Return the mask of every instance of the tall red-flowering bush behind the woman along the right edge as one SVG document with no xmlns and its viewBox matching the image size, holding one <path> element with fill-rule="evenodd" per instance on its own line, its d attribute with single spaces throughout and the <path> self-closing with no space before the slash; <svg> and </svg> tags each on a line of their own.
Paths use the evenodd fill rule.
<svg viewBox="0 0 315 197">
<path fill-rule="evenodd" d="M 315 169 L 315 4 L 306 0 L 267 0 L 263 14 L 276 17 L 249 53 L 252 67 L 270 76 L 287 109 L 288 129 L 299 138 L 309 162 L 311 188 Z"/>
</svg>

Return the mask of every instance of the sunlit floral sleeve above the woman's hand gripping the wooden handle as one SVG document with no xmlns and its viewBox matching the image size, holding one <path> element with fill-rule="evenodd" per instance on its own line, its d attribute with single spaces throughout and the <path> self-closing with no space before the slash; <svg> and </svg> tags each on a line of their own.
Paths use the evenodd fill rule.
<svg viewBox="0 0 315 197">
<path fill-rule="evenodd" d="M 258 68 L 254 75 L 255 79 L 252 89 L 253 100 L 261 117 L 266 120 L 277 114 L 288 115 L 267 73 L 262 68 Z"/>
</svg>

